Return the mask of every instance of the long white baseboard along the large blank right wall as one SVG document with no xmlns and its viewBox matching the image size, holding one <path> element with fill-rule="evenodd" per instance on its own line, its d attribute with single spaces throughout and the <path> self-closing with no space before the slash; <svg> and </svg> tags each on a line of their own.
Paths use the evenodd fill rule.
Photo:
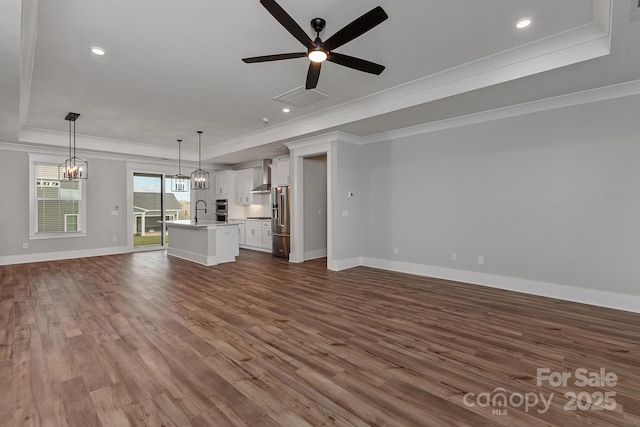
<svg viewBox="0 0 640 427">
<path fill-rule="evenodd" d="M 640 296 L 636 295 L 379 258 L 360 258 L 359 265 L 640 313 Z"/>
</svg>

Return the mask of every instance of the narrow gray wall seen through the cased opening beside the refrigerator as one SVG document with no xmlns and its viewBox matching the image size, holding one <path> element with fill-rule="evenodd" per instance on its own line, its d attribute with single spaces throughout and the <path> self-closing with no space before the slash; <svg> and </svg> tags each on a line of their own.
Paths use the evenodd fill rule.
<svg viewBox="0 0 640 427">
<path fill-rule="evenodd" d="M 327 156 L 303 161 L 305 260 L 327 255 Z"/>
</svg>

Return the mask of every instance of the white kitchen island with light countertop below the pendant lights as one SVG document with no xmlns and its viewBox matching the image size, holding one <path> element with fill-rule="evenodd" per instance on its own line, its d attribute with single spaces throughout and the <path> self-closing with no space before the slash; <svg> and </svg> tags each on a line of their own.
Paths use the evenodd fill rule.
<svg viewBox="0 0 640 427">
<path fill-rule="evenodd" d="M 224 221 L 165 221 L 167 255 L 210 266 L 233 262 L 240 254 L 238 226 Z"/>
</svg>

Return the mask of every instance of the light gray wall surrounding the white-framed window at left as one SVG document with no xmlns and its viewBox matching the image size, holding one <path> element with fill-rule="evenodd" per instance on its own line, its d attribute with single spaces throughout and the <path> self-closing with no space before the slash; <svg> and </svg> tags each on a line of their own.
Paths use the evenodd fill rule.
<svg viewBox="0 0 640 427">
<path fill-rule="evenodd" d="M 60 156 L 64 160 L 64 155 Z M 29 154 L 0 150 L 0 256 L 120 247 L 127 242 L 126 165 L 89 158 L 87 236 L 29 240 Z M 111 211 L 119 207 L 119 215 Z M 116 237 L 116 242 L 113 241 Z M 22 244 L 28 248 L 23 249 Z"/>
</svg>

